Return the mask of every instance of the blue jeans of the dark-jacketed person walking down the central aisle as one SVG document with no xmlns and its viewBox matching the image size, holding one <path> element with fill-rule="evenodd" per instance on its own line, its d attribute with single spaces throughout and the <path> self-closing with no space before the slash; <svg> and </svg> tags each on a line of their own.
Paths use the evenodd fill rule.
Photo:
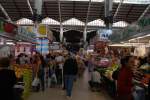
<svg viewBox="0 0 150 100">
<path fill-rule="evenodd" d="M 67 91 L 67 96 L 71 96 L 71 94 L 72 94 L 74 79 L 75 79 L 74 75 L 66 75 L 65 76 L 65 87 L 66 87 L 66 91 Z"/>
</svg>

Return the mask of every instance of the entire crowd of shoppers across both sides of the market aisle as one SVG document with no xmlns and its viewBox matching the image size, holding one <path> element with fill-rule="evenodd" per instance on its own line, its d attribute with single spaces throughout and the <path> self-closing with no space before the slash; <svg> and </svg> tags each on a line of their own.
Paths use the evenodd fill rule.
<svg viewBox="0 0 150 100">
<path fill-rule="evenodd" d="M 112 56 L 111 58 L 112 62 L 118 63 L 120 66 L 112 75 L 117 84 L 115 99 L 145 100 L 145 95 L 140 92 L 136 92 L 133 95 L 133 91 L 138 91 L 134 88 L 133 78 L 141 65 L 150 65 L 150 55 L 145 59 L 131 55 L 124 57 Z M 10 69 L 11 63 L 18 65 L 29 64 L 31 66 L 33 73 L 32 90 L 34 92 L 40 90 L 44 92 L 46 88 L 62 88 L 66 90 L 67 98 L 71 97 L 73 83 L 77 78 L 82 77 L 85 66 L 93 66 L 91 64 L 92 56 L 84 60 L 79 54 L 71 52 L 51 51 L 45 56 L 39 52 L 35 52 L 32 56 L 21 53 L 15 60 L 12 59 L 14 58 L 0 59 L 0 98 L 5 98 L 6 100 L 13 100 L 13 86 L 17 83 L 15 73 Z M 89 67 L 89 72 L 91 72 L 89 85 L 94 91 L 101 91 L 100 73 L 96 68 L 91 67 Z"/>
</svg>

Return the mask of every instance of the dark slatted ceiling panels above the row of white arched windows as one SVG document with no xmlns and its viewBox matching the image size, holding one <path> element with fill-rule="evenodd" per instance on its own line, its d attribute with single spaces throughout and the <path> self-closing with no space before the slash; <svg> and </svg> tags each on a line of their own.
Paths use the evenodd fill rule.
<svg viewBox="0 0 150 100">
<path fill-rule="evenodd" d="M 32 13 L 27 3 L 28 0 L 0 0 L 0 4 L 8 13 L 13 21 L 21 18 L 32 19 Z M 29 0 L 31 8 L 34 8 L 34 0 Z M 99 2 L 98 2 L 99 1 Z M 113 11 L 114 15 L 117 11 L 121 0 L 114 0 Z M 145 2 L 144 2 L 145 1 Z M 77 18 L 86 22 L 89 0 L 60 0 L 62 21 L 70 18 Z M 140 4 L 143 3 L 143 4 Z M 125 21 L 132 23 L 141 16 L 150 3 L 149 0 L 124 0 L 115 18 L 115 22 Z M 150 9 L 145 16 L 150 14 Z M 59 21 L 58 0 L 43 0 L 42 7 L 43 18 L 49 17 Z M 4 14 L 0 12 L 0 17 L 6 19 Z M 96 19 L 104 19 L 104 2 L 103 0 L 92 0 L 88 21 Z"/>
</svg>

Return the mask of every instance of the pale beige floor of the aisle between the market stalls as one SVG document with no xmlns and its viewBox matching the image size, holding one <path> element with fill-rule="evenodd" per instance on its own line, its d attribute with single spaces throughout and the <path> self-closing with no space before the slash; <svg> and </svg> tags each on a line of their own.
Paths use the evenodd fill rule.
<svg viewBox="0 0 150 100">
<path fill-rule="evenodd" d="M 88 88 L 89 73 L 85 71 L 83 78 L 74 84 L 71 100 L 112 100 L 106 92 L 91 92 Z M 65 91 L 53 88 L 45 92 L 33 93 L 28 100 L 67 100 Z"/>
</svg>

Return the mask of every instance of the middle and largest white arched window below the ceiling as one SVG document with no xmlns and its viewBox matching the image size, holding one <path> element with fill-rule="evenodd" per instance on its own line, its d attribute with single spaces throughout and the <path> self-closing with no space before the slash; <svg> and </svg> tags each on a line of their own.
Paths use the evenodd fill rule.
<svg viewBox="0 0 150 100">
<path fill-rule="evenodd" d="M 84 26 L 85 25 L 84 22 L 82 22 L 76 18 L 71 18 L 67 21 L 64 21 L 62 24 L 63 25 L 71 25 L 71 26 Z"/>
</svg>

